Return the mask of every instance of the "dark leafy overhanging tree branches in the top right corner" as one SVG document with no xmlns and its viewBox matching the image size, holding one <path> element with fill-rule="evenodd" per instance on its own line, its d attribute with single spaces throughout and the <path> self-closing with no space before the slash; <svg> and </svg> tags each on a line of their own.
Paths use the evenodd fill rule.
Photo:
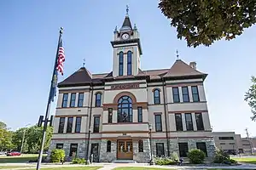
<svg viewBox="0 0 256 170">
<path fill-rule="evenodd" d="M 231 40 L 256 22 L 256 0 L 160 0 L 159 8 L 189 47 Z"/>
</svg>

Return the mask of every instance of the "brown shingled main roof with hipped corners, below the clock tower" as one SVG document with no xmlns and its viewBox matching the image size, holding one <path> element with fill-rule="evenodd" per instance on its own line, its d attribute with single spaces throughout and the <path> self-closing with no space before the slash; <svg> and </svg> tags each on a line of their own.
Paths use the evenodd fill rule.
<svg viewBox="0 0 256 170">
<path fill-rule="evenodd" d="M 137 76 L 124 76 L 115 77 L 116 79 L 122 78 L 135 78 L 135 77 L 149 77 L 150 80 L 157 80 L 161 77 L 202 77 L 205 79 L 207 74 L 200 71 L 196 71 L 194 68 L 190 67 L 184 63 L 181 59 L 177 59 L 170 69 L 160 69 L 160 70 L 148 70 L 142 71 L 139 69 Z M 64 81 L 58 84 L 59 87 L 71 86 L 71 85 L 82 85 L 90 82 L 103 82 L 104 80 L 113 79 L 113 72 L 102 73 L 102 74 L 91 74 L 86 68 L 81 67 L 79 71 L 76 71 L 70 77 L 67 77 Z"/>
</svg>

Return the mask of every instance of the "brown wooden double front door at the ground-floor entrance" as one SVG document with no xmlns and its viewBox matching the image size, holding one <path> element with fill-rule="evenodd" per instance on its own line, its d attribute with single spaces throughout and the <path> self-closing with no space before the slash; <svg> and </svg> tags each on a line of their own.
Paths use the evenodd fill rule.
<svg viewBox="0 0 256 170">
<path fill-rule="evenodd" d="M 119 160 L 133 159 L 132 140 L 118 140 L 117 157 Z"/>
</svg>

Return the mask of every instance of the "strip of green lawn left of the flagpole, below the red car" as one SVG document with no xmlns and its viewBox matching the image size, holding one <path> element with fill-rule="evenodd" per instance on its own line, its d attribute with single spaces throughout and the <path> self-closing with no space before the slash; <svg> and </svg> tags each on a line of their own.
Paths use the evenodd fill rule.
<svg viewBox="0 0 256 170">
<path fill-rule="evenodd" d="M 37 160 L 38 154 L 24 154 L 21 156 L 0 156 L 1 163 L 24 163 L 30 160 Z"/>
</svg>

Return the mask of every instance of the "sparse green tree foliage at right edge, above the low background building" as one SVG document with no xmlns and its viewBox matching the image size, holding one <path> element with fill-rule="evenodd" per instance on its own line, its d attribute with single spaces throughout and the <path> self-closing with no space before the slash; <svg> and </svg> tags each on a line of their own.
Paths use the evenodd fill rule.
<svg viewBox="0 0 256 170">
<path fill-rule="evenodd" d="M 245 94 L 245 100 L 251 107 L 253 121 L 256 121 L 256 77 L 252 77 L 251 82 L 253 83 Z"/>
</svg>

